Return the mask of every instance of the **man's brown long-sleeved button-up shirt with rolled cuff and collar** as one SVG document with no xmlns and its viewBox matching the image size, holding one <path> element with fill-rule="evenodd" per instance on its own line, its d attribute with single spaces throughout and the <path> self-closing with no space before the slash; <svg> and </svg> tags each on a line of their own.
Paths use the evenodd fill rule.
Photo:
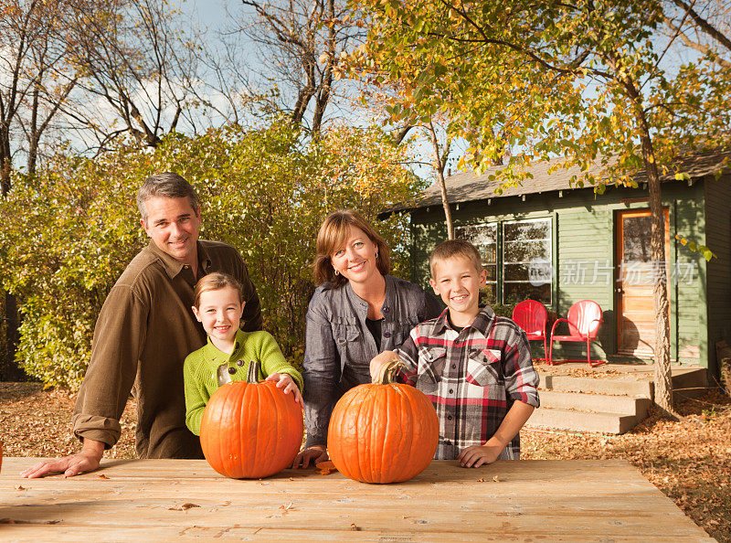
<svg viewBox="0 0 731 543">
<path fill-rule="evenodd" d="M 198 240 L 198 277 L 190 266 L 153 242 L 132 259 L 114 284 L 94 329 L 90 365 L 79 389 L 74 434 L 104 442 L 120 437 L 130 392 L 137 399 L 140 458 L 203 458 L 185 428 L 183 361 L 206 344 L 191 310 L 196 279 L 226 272 L 244 287 L 243 330 L 261 329 L 261 308 L 246 265 L 233 247 Z"/>
</svg>

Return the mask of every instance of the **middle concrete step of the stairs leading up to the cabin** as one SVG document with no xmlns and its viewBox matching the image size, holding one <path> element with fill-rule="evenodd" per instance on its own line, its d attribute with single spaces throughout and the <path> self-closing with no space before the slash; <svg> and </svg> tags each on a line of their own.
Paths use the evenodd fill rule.
<svg viewBox="0 0 731 543">
<path fill-rule="evenodd" d="M 647 417 L 652 400 L 630 396 L 608 394 L 582 394 L 580 392 L 559 392 L 540 390 L 541 408 L 599 411 L 620 415 L 634 415 L 638 421 Z"/>
</svg>

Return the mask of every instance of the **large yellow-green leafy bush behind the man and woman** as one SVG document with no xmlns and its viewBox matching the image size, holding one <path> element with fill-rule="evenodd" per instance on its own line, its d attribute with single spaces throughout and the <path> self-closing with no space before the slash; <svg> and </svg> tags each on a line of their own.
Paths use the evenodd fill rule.
<svg viewBox="0 0 731 543">
<path fill-rule="evenodd" d="M 147 240 L 134 195 L 146 176 L 174 171 L 202 201 L 201 237 L 236 247 L 249 266 L 264 325 L 287 357 L 302 359 L 313 293 L 314 241 L 324 216 L 366 218 L 420 188 L 402 150 L 376 129 L 339 127 L 311 142 L 285 122 L 168 136 L 154 151 L 122 149 L 92 161 L 60 155 L 34 177 L 16 176 L 0 200 L 2 286 L 21 300 L 17 357 L 47 386 L 78 388 L 106 294 Z M 407 218 L 377 224 L 408 276 Z"/>
</svg>

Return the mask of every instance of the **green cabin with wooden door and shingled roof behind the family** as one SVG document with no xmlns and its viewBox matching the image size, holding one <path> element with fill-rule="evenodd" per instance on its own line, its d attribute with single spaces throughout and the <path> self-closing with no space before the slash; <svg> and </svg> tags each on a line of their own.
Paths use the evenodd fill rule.
<svg viewBox="0 0 731 543">
<path fill-rule="evenodd" d="M 682 180 L 662 177 L 665 255 L 668 262 L 671 357 L 717 375 L 715 343 L 731 340 L 731 154 L 697 155 L 679 165 Z M 559 160 L 559 159 L 556 159 Z M 457 238 L 471 240 L 488 271 L 487 303 L 538 300 L 565 317 L 572 303 L 599 303 L 603 323 L 591 356 L 652 362 L 654 309 L 650 258 L 650 208 L 640 172 L 638 188 L 571 186 L 577 169 L 536 165 L 532 179 L 502 194 L 489 177 L 460 173 L 447 179 Z M 720 174 L 719 174 L 720 172 Z M 394 209 L 396 210 L 396 209 Z M 413 277 L 429 288 L 429 252 L 447 239 L 439 186 L 411 208 Z M 678 236 L 676 238 L 676 236 Z M 705 261 L 683 243 L 715 253 Z M 558 333 L 558 330 L 556 331 Z M 566 333 L 566 331 L 562 332 Z M 533 342 L 536 357 L 543 345 Z M 581 357 L 586 346 L 559 344 L 555 357 Z M 586 355 L 584 355 L 586 357 Z"/>
</svg>

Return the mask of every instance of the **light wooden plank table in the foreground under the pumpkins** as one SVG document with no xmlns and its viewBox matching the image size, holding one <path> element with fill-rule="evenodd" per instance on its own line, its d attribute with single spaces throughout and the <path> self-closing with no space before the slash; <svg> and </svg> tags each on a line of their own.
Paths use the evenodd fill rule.
<svg viewBox="0 0 731 543">
<path fill-rule="evenodd" d="M 713 541 L 624 461 L 435 461 L 400 484 L 286 470 L 232 480 L 205 461 L 108 460 L 92 474 L 22 479 L 5 458 L 0 539 Z"/>
</svg>

